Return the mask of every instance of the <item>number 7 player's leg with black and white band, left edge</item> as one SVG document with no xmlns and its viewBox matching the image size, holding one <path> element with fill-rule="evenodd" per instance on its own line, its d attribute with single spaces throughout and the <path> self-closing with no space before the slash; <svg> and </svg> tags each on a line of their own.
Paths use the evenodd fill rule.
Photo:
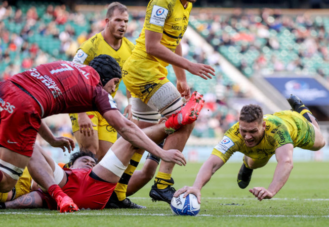
<svg viewBox="0 0 329 227">
<path fill-rule="evenodd" d="M 11 191 L 22 176 L 29 157 L 0 147 L 0 192 Z"/>
</svg>

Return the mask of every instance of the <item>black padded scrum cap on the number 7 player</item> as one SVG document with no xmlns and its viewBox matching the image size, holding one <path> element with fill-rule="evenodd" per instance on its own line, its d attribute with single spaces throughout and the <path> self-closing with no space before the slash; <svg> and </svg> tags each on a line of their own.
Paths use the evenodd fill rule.
<svg viewBox="0 0 329 227">
<path fill-rule="evenodd" d="M 121 67 L 110 55 L 101 54 L 96 56 L 89 63 L 89 66 L 97 71 L 103 86 L 113 78 L 121 78 Z"/>
</svg>

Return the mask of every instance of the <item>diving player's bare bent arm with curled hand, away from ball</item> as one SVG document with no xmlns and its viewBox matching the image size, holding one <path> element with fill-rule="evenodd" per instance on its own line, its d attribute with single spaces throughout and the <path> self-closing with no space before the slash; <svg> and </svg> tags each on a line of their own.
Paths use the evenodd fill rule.
<svg viewBox="0 0 329 227">
<path fill-rule="evenodd" d="M 277 165 L 274 171 L 273 180 L 268 189 L 264 187 L 249 189 L 259 201 L 262 201 L 263 199 L 271 199 L 286 183 L 293 169 L 293 151 L 293 144 L 285 144 L 275 150 Z"/>
</svg>

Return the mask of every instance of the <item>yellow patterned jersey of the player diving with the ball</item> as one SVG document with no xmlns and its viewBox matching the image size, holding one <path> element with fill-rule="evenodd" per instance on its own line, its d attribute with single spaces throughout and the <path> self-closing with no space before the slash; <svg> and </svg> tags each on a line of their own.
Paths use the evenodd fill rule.
<svg viewBox="0 0 329 227">
<path fill-rule="evenodd" d="M 284 110 L 273 115 L 264 115 L 266 128 L 264 137 L 254 147 L 247 147 L 239 132 L 239 123 L 226 131 L 221 142 L 213 149 L 212 154 L 220 157 L 224 163 L 231 155 L 239 151 L 253 159 L 271 157 L 276 148 L 291 143 L 294 147 L 308 149 L 314 145 L 314 128 L 300 113 Z"/>
</svg>

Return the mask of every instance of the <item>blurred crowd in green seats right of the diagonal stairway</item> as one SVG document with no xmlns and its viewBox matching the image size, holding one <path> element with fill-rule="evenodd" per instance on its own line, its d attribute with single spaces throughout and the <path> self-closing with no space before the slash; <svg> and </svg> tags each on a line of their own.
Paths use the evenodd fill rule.
<svg viewBox="0 0 329 227">
<path fill-rule="evenodd" d="M 329 17 L 278 9 L 201 10 L 191 25 L 246 76 L 294 72 L 329 79 Z"/>
</svg>

